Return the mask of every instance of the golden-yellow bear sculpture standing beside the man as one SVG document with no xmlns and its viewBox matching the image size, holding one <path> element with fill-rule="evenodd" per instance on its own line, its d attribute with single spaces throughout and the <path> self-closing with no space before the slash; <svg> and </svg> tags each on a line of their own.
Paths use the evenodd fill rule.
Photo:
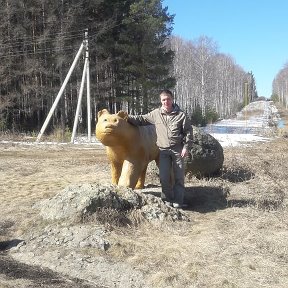
<svg viewBox="0 0 288 288">
<path fill-rule="evenodd" d="M 106 146 L 111 164 L 112 184 L 142 189 L 149 162 L 159 163 L 154 125 L 136 127 L 127 122 L 127 113 L 98 112 L 96 138 Z"/>
</svg>

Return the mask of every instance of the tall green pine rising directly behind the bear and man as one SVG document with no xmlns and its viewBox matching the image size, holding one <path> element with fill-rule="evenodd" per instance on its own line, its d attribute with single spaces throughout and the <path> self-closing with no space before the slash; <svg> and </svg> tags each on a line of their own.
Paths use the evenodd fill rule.
<svg viewBox="0 0 288 288">
<path fill-rule="evenodd" d="M 175 84 L 169 77 L 173 52 L 165 46 L 173 18 L 162 8 L 161 1 L 140 0 L 130 6 L 124 19 L 126 31 L 119 39 L 125 61 L 121 72 L 129 80 L 127 94 L 132 111 L 148 112 L 150 103 L 158 105 L 159 89 Z"/>
</svg>

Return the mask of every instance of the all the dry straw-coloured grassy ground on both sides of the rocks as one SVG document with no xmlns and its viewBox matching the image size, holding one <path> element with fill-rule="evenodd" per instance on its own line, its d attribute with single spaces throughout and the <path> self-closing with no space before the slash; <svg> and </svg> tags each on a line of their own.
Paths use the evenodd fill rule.
<svg viewBox="0 0 288 288">
<path fill-rule="evenodd" d="M 288 287 L 287 141 L 225 148 L 219 177 L 186 179 L 190 222 L 114 228 L 101 256 L 142 271 L 147 287 Z M 100 287 L 8 249 L 39 224 L 34 203 L 77 183 L 110 183 L 101 146 L 0 144 L 1 288 Z M 159 187 L 152 175 L 147 184 Z"/>
</svg>

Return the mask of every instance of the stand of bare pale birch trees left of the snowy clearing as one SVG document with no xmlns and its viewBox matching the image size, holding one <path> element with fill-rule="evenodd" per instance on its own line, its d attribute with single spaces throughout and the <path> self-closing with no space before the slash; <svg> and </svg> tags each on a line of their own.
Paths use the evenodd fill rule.
<svg viewBox="0 0 288 288">
<path fill-rule="evenodd" d="M 253 74 L 245 72 L 231 56 L 219 53 L 212 39 L 184 41 L 173 36 L 170 48 L 175 53 L 175 94 L 188 114 L 200 113 L 202 118 L 208 117 L 208 112 L 221 118 L 234 114 L 243 105 L 244 83 L 251 87 L 251 99 L 257 97 Z"/>
</svg>

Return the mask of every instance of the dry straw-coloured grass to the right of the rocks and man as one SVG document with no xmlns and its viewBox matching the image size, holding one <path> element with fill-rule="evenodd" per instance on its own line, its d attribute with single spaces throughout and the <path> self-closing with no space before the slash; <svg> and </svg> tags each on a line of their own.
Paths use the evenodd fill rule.
<svg viewBox="0 0 288 288">
<path fill-rule="evenodd" d="M 222 187 L 226 205 L 194 191 L 191 222 L 115 233 L 109 255 L 146 271 L 152 287 L 287 287 L 287 155 L 285 139 L 226 149 L 221 177 L 187 183 Z"/>
</svg>

